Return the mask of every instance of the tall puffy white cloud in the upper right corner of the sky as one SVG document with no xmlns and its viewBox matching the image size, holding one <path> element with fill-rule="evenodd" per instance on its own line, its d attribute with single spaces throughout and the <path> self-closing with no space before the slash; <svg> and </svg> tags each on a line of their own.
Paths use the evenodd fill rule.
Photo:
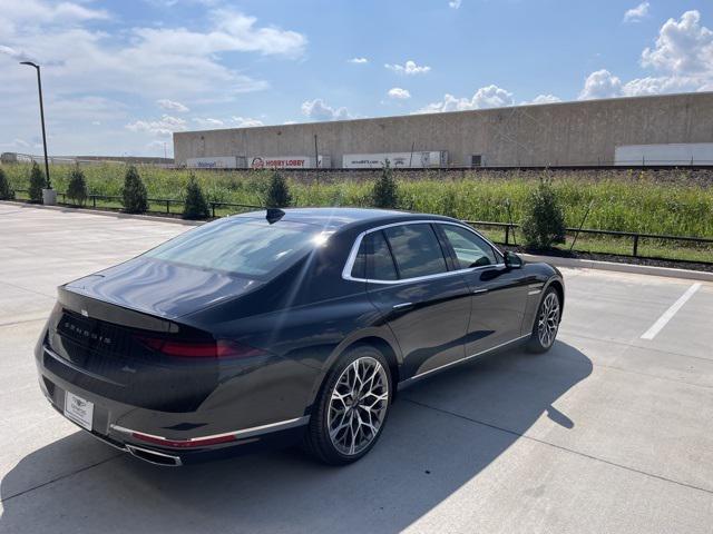
<svg viewBox="0 0 713 534">
<path fill-rule="evenodd" d="M 686 11 L 678 21 L 668 19 L 656 46 L 642 53 L 642 66 L 672 73 L 713 72 L 713 31 L 701 26 L 699 11 Z"/>
</svg>

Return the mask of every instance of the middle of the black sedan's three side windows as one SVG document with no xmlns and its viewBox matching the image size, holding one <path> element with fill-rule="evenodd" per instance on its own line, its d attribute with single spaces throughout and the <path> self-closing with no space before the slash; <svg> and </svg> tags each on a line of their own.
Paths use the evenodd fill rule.
<svg viewBox="0 0 713 534">
<path fill-rule="evenodd" d="M 400 225 L 383 230 L 400 278 L 446 273 L 446 258 L 431 225 Z"/>
</svg>

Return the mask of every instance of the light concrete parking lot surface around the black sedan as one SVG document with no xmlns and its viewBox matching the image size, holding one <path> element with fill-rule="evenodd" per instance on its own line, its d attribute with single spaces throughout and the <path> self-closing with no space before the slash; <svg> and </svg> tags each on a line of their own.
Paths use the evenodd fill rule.
<svg viewBox="0 0 713 534">
<path fill-rule="evenodd" d="M 186 228 L 0 202 L 0 532 L 712 532 L 706 283 L 564 270 L 549 353 L 403 392 L 344 468 L 296 451 L 160 468 L 95 441 L 37 384 L 55 288 Z"/>
</svg>

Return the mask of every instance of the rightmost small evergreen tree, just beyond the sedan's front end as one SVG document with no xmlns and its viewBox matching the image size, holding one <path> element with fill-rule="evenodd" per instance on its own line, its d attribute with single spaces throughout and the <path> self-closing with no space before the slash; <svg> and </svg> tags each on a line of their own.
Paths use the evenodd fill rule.
<svg viewBox="0 0 713 534">
<path fill-rule="evenodd" d="M 544 249 L 565 243 L 565 214 L 547 178 L 540 179 L 527 196 L 522 235 L 526 245 L 531 248 Z"/>
</svg>

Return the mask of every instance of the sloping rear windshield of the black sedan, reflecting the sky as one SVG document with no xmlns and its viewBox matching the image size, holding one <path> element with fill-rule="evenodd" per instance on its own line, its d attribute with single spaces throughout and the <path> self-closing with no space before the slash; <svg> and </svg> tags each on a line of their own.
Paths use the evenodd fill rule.
<svg viewBox="0 0 713 534">
<path fill-rule="evenodd" d="M 234 218 L 187 231 L 144 256 L 164 261 L 264 278 L 297 261 L 325 235 L 314 225 Z"/>
</svg>

